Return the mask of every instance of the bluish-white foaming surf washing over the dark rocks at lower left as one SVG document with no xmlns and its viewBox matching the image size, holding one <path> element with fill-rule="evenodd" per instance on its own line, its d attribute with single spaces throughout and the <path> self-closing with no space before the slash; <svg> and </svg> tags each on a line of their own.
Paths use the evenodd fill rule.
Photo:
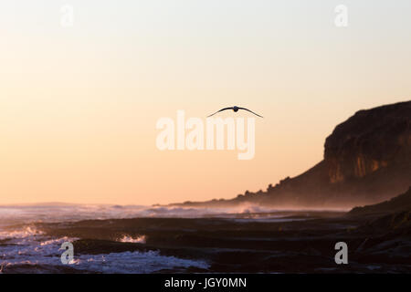
<svg viewBox="0 0 411 292">
<path fill-rule="evenodd" d="M 153 273 L 163 269 L 198 267 L 207 268 L 200 260 L 182 259 L 160 255 L 156 251 L 121 252 L 106 255 L 75 255 L 69 265 L 63 265 L 60 257 L 64 242 L 78 238 L 51 238 L 32 226 L 0 232 L 0 273 L 48 273 L 73 268 L 93 273 Z M 124 235 L 120 242 L 144 243 L 145 236 Z"/>
</svg>

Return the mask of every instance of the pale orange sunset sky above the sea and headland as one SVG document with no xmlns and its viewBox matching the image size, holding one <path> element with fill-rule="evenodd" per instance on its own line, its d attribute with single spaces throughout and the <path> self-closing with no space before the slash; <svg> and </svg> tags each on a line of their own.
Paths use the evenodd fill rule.
<svg viewBox="0 0 411 292">
<path fill-rule="evenodd" d="M 203 201 L 298 175 L 355 111 L 410 99 L 410 15 L 409 0 L 2 1 L 0 204 Z M 156 147 L 160 118 L 234 105 L 264 116 L 252 160 Z"/>
</svg>

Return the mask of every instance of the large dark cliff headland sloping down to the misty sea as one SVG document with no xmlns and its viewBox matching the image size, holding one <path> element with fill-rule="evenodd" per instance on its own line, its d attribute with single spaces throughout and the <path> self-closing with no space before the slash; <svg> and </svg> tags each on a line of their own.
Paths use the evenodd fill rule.
<svg viewBox="0 0 411 292">
<path fill-rule="evenodd" d="M 357 111 L 327 137 L 321 162 L 265 192 L 184 205 L 353 207 L 382 202 L 410 185 L 411 101 L 406 101 Z"/>
</svg>

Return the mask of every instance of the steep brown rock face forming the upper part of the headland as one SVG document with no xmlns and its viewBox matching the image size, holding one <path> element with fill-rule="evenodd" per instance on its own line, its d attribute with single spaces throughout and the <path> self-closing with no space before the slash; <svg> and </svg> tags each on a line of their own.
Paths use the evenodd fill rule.
<svg viewBox="0 0 411 292">
<path fill-rule="evenodd" d="M 411 102 L 360 110 L 325 141 L 330 183 L 411 163 Z"/>
</svg>

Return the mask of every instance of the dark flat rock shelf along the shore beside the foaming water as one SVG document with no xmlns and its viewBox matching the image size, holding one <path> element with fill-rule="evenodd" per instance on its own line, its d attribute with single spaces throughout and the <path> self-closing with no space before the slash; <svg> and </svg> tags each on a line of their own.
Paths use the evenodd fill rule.
<svg viewBox="0 0 411 292">
<path fill-rule="evenodd" d="M 158 251 L 209 264 L 160 273 L 411 272 L 411 212 L 303 217 L 286 222 L 135 218 L 40 227 L 48 235 L 80 238 L 74 242 L 76 254 Z M 147 240 L 121 243 L 116 239 L 122 234 L 145 235 Z M 349 248 L 348 265 L 334 262 L 334 245 L 341 241 Z"/>
</svg>

